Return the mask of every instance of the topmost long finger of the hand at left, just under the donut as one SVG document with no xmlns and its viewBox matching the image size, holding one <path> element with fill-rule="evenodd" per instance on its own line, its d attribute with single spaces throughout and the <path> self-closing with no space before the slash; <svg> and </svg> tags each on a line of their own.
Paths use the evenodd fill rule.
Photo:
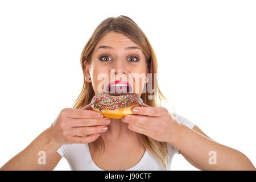
<svg viewBox="0 0 256 182">
<path fill-rule="evenodd" d="M 92 110 L 85 109 L 73 109 L 67 108 L 61 111 L 61 114 L 67 115 L 69 118 L 92 118 L 92 119 L 100 119 L 103 118 L 103 114 L 98 113 Z"/>
</svg>

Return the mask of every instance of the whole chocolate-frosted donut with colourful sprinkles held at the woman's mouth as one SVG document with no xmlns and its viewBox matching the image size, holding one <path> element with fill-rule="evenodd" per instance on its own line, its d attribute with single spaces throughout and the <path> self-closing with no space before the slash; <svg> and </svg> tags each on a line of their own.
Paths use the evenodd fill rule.
<svg viewBox="0 0 256 182">
<path fill-rule="evenodd" d="M 102 113 L 106 118 L 121 119 L 123 116 L 133 114 L 131 109 L 143 106 L 142 99 L 134 93 L 98 93 L 90 105 L 93 110 Z"/>
</svg>

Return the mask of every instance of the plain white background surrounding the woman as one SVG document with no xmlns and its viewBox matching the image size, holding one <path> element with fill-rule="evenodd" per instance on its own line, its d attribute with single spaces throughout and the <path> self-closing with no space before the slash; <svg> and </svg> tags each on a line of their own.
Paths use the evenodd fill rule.
<svg viewBox="0 0 256 182">
<path fill-rule="evenodd" d="M 150 40 L 176 112 L 255 166 L 255 9 L 255 1 L 1 1 L 0 166 L 72 106 L 82 48 L 119 15 Z M 181 155 L 172 169 L 197 170 Z M 67 161 L 55 170 L 69 170 Z"/>
</svg>

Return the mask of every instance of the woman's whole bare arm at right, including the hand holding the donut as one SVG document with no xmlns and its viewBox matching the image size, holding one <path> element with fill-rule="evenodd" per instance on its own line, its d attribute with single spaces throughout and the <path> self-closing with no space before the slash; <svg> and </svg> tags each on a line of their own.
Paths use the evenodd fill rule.
<svg viewBox="0 0 256 182">
<path fill-rule="evenodd" d="M 187 159 L 191 159 L 197 168 L 256 170 L 250 160 L 240 151 L 217 143 L 179 123 L 164 107 L 148 105 L 133 107 L 133 113 L 133 115 L 126 115 L 122 118 L 123 122 L 128 123 L 130 130 L 171 144 L 183 152 L 188 157 Z"/>
</svg>

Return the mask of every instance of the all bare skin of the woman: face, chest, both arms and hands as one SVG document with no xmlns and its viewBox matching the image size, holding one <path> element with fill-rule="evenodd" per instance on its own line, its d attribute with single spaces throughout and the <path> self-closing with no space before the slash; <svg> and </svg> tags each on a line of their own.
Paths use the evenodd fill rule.
<svg viewBox="0 0 256 182">
<path fill-rule="evenodd" d="M 109 46 L 113 49 L 99 46 Z M 105 73 L 128 75 L 129 73 L 148 72 L 144 55 L 140 49 L 125 49 L 126 47 L 137 46 L 126 36 L 108 32 L 96 45 L 92 60 L 85 66 L 85 80 L 92 82 L 95 93 L 98 93 L 97 86 L 100 80 L 97 76 Z M 104 61 L 99 58 L 102 55 Z M 139 61 L 130 59 L 131 55 L 139 57 Z M 133 60 L 133 61 L 131 61 Z M 110 69 L 115 69 L 114 73 Z M 89 79 L 90 78 L 90 79 Z M 146 82 L 144 80 L 144 82 Z M 139 85 L 144 85 L 140 82 Z M 133 88 L 135 85 L 133 85 Z M 142 89 L 139 89 L 141 96 Z M 96 135 L 101 134 L 105 142 L 106 150 L 98 159 L 94 158 L 95 149 L 89 148 L 90 155 L 96 165 L 105 170 L 123 170 L 133 167 L 141 160 L 145 148 L 139 141 L 139 134 L 147 135 L 155 140 L 170 143 L 180 150 L 180 154 L 196 168 L 201 170 L 255 170 L 250 160 L 240 151 L 224 146 L 210 139 L 199 127 L 189 129 L 176 121 L 164 107 L 135 107 L 134 115 L 123 119 L 97 118 L 95 111 L 90 106 L 83 109 L 64 109 L 52 125 L 43 131 L 28 147 L 21 151 L 14 158 L 10 159 L 1 170 L 52 170 L 55 168 L 61 156 L 56 150 L 63 144 L 69 143 L 90 143 L 97 139 Z M 129 118 L 126 120 L 126 118 Z M 156 119 L 158 123 L 156 124 Z M 102 127 L 108 129 L 102 131 Z M 133 128 L 127 127 L 133 126 Z M 77 135 L 88 135 L 90 137 L 77 137 Z M 196 146 L 196 147 L 195 147 Z M 133 150 L 130 150 L 133 148 Z M 46 165 L 38 164 L 38 151 L 46 151 Z M 219 158 L 217 165 L 209 165 L 208 152 L 214 150 Z M 125 157 L 132 156 L 123 161 Z M 122 161 L 122 163 L 120 163 Z"/>
</svg>

